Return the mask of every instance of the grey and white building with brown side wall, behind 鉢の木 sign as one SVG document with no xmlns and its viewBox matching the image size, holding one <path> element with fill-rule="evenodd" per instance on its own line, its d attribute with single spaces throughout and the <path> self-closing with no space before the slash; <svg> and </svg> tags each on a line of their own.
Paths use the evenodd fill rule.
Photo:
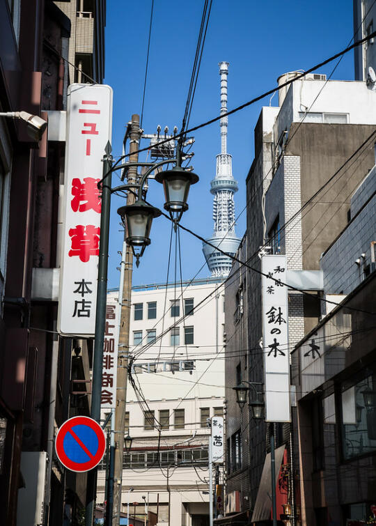
<svg viewBox="0 0 376 526">
<path fill-rule="evenodd" d="M 292 76 L 283 75 L 280 84 Z M 350 197 L 375 162 L 375 118 L 375 91 L 366 82 L 326 82 L 322 75 L 307 75 L 281 89 L 279 107 L 260 113 L 255 159 L 246 179 L 246 236 L 238 254 L 256 270 L 264 245 L 269 253 L 287 256 L 288 284 L 305 291 L 288 294 L 291 348 L 322 315 L 320 256 L 347 225 Z M 249 419 L 246 408 L 241 414 L 232 387 L 241 379 L 263 382 L 261 279 L 234 265 L 230 282 L 225 301 L 226 334 L 234 334 L 226 346 L 228 511 L 243 513 L 240 523 L 257 524 L 270 518 L 269 432 L 263 421 Z M 305 502 L 299 501 L 298 451 L 304 443 L 298 442 L 298 423 L 292 408 L 292 428 L 274 424 L 281 466 L 277 518 L 282 504 L 292 504 L 296 524 L 313 526 L 318 520 L 321 525 L 320 515 L 306 519 L 300 512 Z"/>
</svg>

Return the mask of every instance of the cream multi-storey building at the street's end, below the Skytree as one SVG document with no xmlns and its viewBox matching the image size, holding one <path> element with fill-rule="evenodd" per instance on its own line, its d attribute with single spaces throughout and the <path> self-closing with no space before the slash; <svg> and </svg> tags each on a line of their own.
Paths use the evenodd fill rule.
<svg viewBox="0 0 376 526">
<path fill-rule="evenodd" d="M 133 442 L 124 454 L 121 510 L 130 498 L 139 503 L 131 512 L 142 516 L 144 496 L 159 525 L 209 524 L 207 419 L 224 410 L 221 284 L 209 278 L 132 289 L 134 384 L 127 387 L 125 433 Z M 103 502 L 100 472 L 97 503 Z"/>
</svg>

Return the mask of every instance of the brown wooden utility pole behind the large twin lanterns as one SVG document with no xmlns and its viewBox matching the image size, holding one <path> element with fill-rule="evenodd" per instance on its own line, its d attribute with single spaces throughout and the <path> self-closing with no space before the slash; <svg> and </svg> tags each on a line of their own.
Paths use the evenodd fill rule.
<svg viewBox="0 0 376 526">
<path fill-rule="evenodd" d="M 130 162 L 138 162 L 139 154 L 134 153 L 140 146 L 140 118 L 139 115 L 132 115 L 130 129 Z M 130 167 L 127 172 L 128 183 L 137 180 L 137 168 Z M 135 197 L 132 192 L 128 192 L 127 205 L 134 203 Z M 125 230 L 124 238 L 127 237 Z M 132 248 L 127 246 L 125 252 L 125 269 L 123 278 L 123 299 L 120 305 L 120 332 L 118 349 L 118 380 L 116 387 L 116 410 L 115 410 L 115 469 L 113 477 L 113 525 L 120 524 L 121 508 L 121 482 L 123 475 L 123 451 L 124 451 L 124 426 L 125 426 L 125 403 L 127 400 L 127 368 L 130 351 L 130 311 L 131 311 L 131 292 L 132 292 L 132 269 L 133 254 Z"/>
</svg>

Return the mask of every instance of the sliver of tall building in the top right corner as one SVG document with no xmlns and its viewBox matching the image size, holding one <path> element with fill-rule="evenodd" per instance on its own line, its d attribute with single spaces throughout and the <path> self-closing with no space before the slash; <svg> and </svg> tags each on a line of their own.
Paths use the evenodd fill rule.
<svg viewBox="0 0 376 526">
<path fill-rule="evenodd" d="M 376 6 L 372 0 L 354 0 L 354 41 L 362 40 L 375 31 Z M 374 38 L 354 49 L 355 80 L 368 78 L 368 68 L 376 71 L 376 42 Z"/>
</svg>

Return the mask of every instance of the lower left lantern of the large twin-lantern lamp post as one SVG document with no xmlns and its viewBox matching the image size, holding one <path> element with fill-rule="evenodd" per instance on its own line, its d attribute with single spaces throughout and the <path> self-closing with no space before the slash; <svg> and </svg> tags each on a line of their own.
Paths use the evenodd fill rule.
<svg viewBox="0 0 376 526">
<path fill-rule="evenodd" d="M 152 219 L 161 215 L 161 211 L 138 199 L 132 205 L 118 209 L 123 224 L 127 226 L 127 245 L 131 247 L 147 247 L 150 245 L 150 229 Z"/>
</svg>

